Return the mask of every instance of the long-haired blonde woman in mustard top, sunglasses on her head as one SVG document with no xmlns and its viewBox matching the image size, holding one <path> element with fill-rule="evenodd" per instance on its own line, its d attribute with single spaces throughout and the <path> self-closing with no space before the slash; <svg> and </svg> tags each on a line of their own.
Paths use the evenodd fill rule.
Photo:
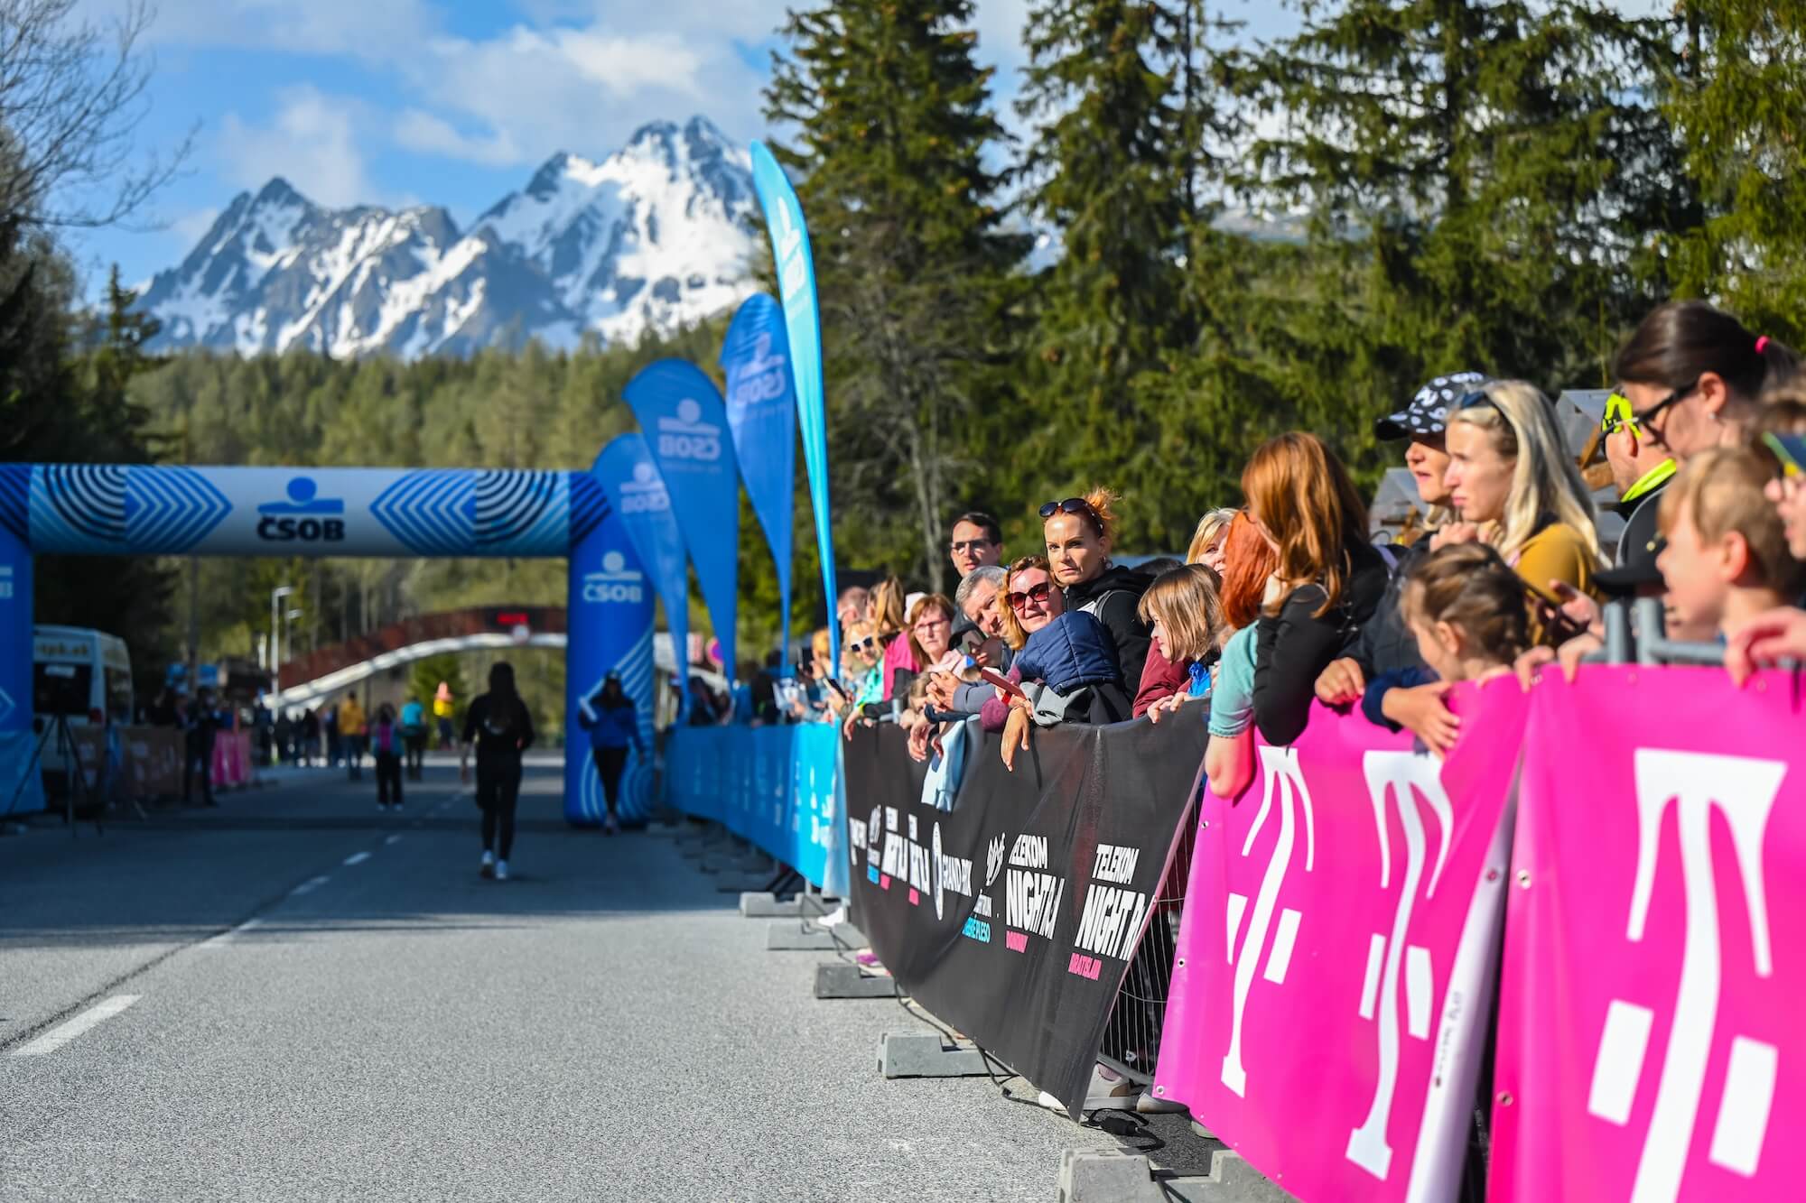
<svg viewBox="0 0 1806 1203">
<path fill-rule="evenodd" d="M 1521 379 L 1488 381 L 1456 403 L 1447 441 L 1445 480 L 1461 522 L 1443 527 L 1436 547 L 1492 544 L 1550 607 L 1597 592 L 1593 497 L 1550 399 Z M 1531 614 L 1533 641 L 1546 634 Z"/>
</svg>

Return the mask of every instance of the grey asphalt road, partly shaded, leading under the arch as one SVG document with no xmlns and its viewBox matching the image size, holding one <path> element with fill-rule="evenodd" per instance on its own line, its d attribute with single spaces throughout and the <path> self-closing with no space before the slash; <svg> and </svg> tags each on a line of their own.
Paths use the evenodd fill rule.
<svg viewBox="0 0 1806 1203">
<path fill-rule="evenodd" d="M 448 764 L 410 789 L 0 836 L 0 1199 L 1051 1199 L 1114 1147 L 881 1080 L 916 1021 L 816 1001 L 668 836 L 567 829 L 553 766 L 506 883 Z"/>
</svg>

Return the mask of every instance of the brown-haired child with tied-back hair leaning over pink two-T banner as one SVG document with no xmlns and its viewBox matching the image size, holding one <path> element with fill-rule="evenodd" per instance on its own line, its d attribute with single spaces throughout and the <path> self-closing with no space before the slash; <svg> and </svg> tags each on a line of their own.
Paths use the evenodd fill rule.
<svg viewBox="0 0 1806 1203">
<path fill-rule="evenodd" d="M 1418 560 L 1405 578 L 1400 611 L 1427 668 L 1382 674 L 1362 697 L 1378 726 L 1409 730 L 1438 757 L 1461 735 L 1461 717 L 1445 695 L 1457 681 L 1512 672 L 1530 647 L 1524 580 L 1486 544 L 1452 544 Z M 1420 685 L 1436 690 L 1414 690 Z"/>
</svg>

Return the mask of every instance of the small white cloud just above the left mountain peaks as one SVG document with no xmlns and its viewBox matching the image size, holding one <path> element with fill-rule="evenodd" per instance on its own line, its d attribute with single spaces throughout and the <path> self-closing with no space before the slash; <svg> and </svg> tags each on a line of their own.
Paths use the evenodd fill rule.
<svg viewBox="0 0 1806 1203">
<path fill-rule="evenodd" d="M 267 126 L 226 114 L 213 146 L 220 173 L 246 188 L 282 175 L 320 204 L 374 202 L 356 137 L 368 125 L 363 107 L 305 85 L 282 92 L 280 103 Z"/>
</svg>

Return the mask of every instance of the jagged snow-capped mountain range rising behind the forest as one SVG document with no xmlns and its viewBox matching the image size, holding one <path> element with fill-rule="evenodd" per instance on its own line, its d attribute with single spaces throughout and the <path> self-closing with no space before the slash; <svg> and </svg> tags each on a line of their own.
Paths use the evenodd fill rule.
<svg viewBox="0 0 1806 1203">
<path fill-rule="evenodd" d="M 632 341 L 746 296 L 753 206 L 746 148 L 704 117 L 648 125 L 600 163 L 553 155 L 468 231 L 439 206 L 329 210 L 273 179 L 159 271 L 139 307 L 163 322 L 159 349 Z"/>
</svg>

